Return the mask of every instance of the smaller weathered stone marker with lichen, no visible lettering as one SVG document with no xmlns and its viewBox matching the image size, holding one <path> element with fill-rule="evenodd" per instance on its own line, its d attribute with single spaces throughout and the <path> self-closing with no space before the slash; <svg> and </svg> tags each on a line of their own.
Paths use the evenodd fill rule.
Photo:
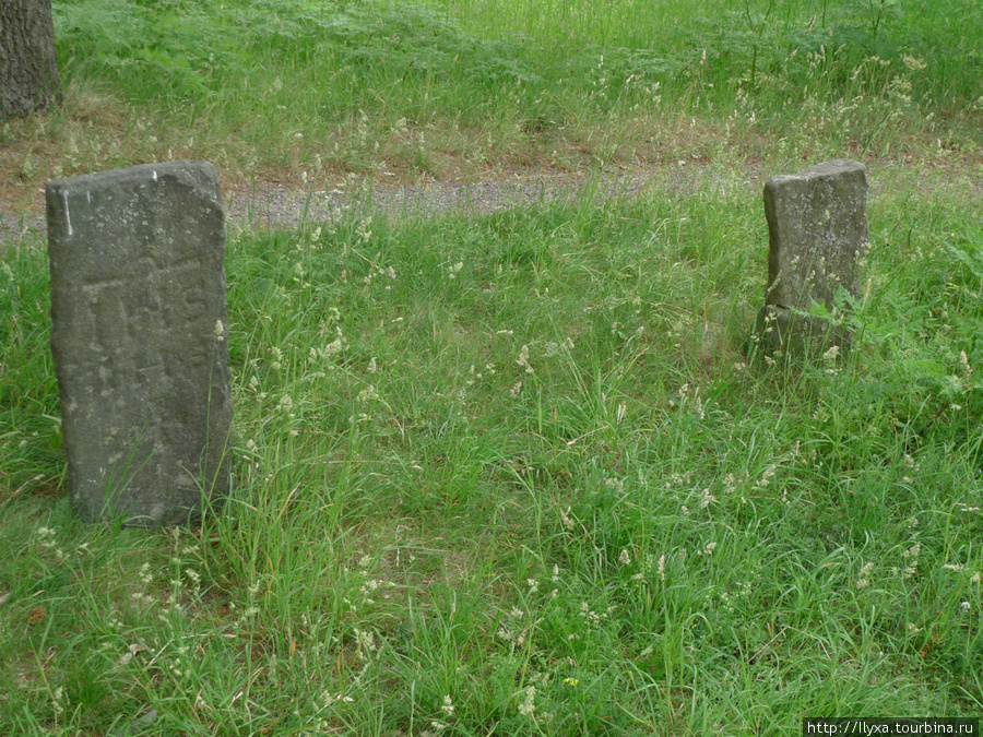
<svg viewBox="0 0 983 737">
<path fill-rule="evenodd" d="M 867 248 L 867 170 L 836 159 L 765 185 L 768 289 L 759 319 L 766 346 L 809 353 L 850 335 L 828 321 L 796 314 L 813 302 L 832 309 L 842 287 L 860 296 Z"/>
</svg>

